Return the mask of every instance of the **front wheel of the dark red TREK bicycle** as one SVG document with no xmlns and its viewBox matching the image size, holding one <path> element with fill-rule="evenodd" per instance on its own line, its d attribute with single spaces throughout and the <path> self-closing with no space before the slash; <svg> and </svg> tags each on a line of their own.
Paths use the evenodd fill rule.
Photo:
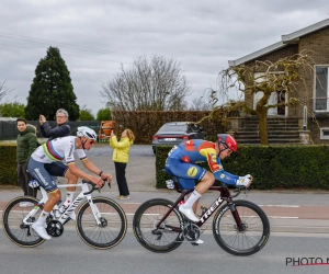
<svg viewBox="0 0 329 274">
<path fill-rule="evenodd" d="M 247 256 L 260 251 L 270 237 L 270 221 L 265 213 L 249 201 L 234 201 L 240 219 L 246 226 L 245 231 L 238 231 L 236 221 L 228 205 L 216 213 L 213 220 L 213 235 L 217 243 L 228 253 Z M 241 244 L 242 247 L 238 247 Z"/>
</svg>

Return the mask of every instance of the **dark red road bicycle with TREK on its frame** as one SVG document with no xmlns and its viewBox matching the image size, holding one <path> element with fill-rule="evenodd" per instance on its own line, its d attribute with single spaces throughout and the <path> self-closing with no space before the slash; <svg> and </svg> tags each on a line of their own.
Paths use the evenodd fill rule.
<svg viewBox="0 0 329 274">
<path fill-rule="evenodd" d="M 202 207 L 197 222 L 189 220 L 179 212 L 179 205 L 194 189 L 181 191 L 177 176 L 172 176 L 173 185 L 180 197 L 173 203 L 164 198 L 152 198 L 141 204 L 133 219 L 133 230 L 138 242 L 154 252 L 170 252 L 188 240 L 193 246 L 201 235 L 201 227 L 214 214 L 213 235 L 216 242 L 228 253 L 247 256 L 260 251 L 270 237 L 270 222 L 265 213 L 256 204 L 237 199 L 246 187 L 237 187 L 231 195 L 229 189 L 212 186 L 219 196 L 208 207 Z M 247 190 L 246 190 L 247 191 Z M 219 206 L 225 203 L 220 208 Z M 217 208 L 219 208 L 217 210 Z"/>
</svg>

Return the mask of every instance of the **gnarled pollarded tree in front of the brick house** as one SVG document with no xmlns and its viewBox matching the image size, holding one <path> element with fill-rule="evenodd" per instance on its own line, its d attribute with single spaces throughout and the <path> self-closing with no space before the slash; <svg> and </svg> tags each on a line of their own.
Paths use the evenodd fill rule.
<svg viewBox="0 0 329 274">
<path fill-rule="evenodd" d="M 225 113 L 243 110 L 247 114 L 256 115 L 259 119 L 261 145 L 269 145 L 268 110 L 277 106 L 299 105 L 299 99 L 294 98 L 293 94 L 288 96 L 286 102 L 268 104 L 271 93 L 292 93 L 298 90 L 297 88 L 300 88 L 300 83 L 304 82 L 299 72 L 307 69 L 309 69 L 310 73 L 313 72 L 310 58 L 307 55 L 298 54 L 275 62 L 269 60 L 256 61 L 254 66 L 237 66 L 223 70 L 219 73 L 219 95 L 228 99 L 232 91 L 242 92 L 245 96 L 251 96 L 258 92 L 262 94 L 257 102 L 256 110 L 251 109 L 245 101 L 238 101 L 226 107 Z M 256 71 L 261 73 L 256 75 Z M 220 106 L 222 111 L 223 107 Z M 217 107 L 214 109 L 214 112 L 218 112 Z M 209 117 L 212 117 L 213 113 Z"/>
</svg>

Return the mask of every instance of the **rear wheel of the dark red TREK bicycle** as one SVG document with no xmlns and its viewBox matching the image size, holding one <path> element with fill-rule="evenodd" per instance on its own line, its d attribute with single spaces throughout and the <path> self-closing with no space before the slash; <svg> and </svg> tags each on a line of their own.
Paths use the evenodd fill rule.
<svg viewBox="0 0 329 274">
<path fill-rule="evenodd" d="M 157 221 L 159 221 L 172 206 L 173 203 L 171 201 L 154 198 L 145 202 L 137 208 L 133 219 L 133 230 L 137 241 L 144 248 L 152 252 L 166 253 L 182 244 L 184 240 L 182 232 L 161 229 L 161 239 L 159 239 L 159 236 L 151 232 L 155 229 Z M 183 217 L 178 208 L 174 208 L 164 222 L 181 228 L 183 225 Z M 164 240 L 162 239 L 163 236 Z"/>
</svg>

